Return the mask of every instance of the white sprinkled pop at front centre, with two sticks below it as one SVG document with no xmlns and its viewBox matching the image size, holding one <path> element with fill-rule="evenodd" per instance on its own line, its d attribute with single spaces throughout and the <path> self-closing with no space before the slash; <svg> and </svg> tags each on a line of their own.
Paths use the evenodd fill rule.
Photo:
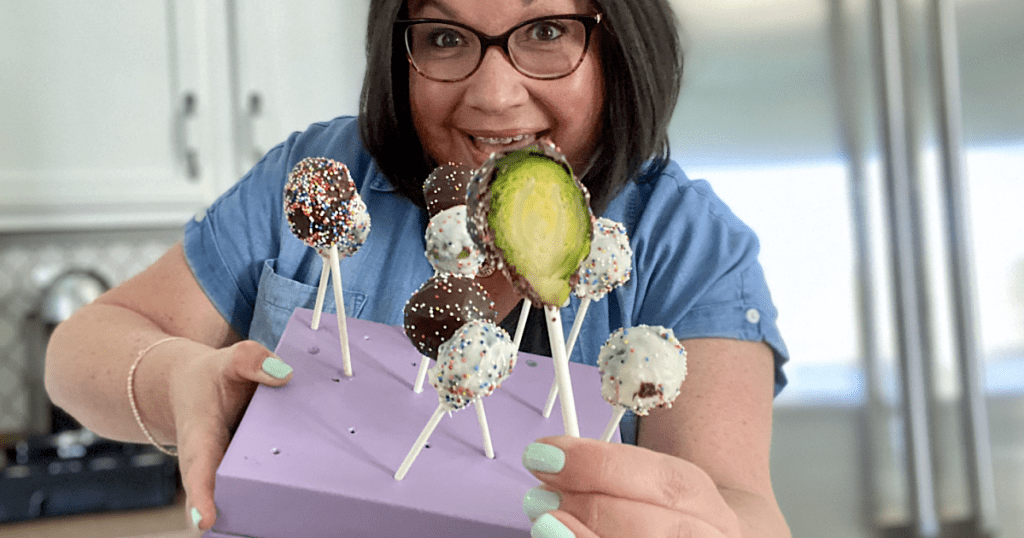
<svg viewBox="0 0 1024 538">
<path fill-rule="evenodd" d="M 515 355 L 508 333 L 482 320 L 467 323 L 440 345 L 437 364 L 429 372 L 430 384 L 437 390 L 437 409 L 406 455 L 394 474 L 395 480 L 402 480 L 409 472 L 444 413 L 458 411 L 469 404 L 476 407 L 484 454 L 495 457 L 483 398 L 490 396 L 512 373 Z"/>
</svg>

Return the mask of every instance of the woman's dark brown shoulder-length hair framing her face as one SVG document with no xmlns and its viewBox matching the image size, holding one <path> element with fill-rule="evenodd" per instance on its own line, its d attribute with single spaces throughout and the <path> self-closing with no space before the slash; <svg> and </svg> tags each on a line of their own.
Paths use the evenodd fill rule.
<svg viewBox="0 0 1024 538">
<path fill-rule="evenodd" d="M 603 133 L 582 177 L 600 215 L 630 180 L 659 174 L 669 162 L 669 120 L 683 72 L 676 18 L 667 0 L 593 0 L 604 14 L 597 40 L 604 69 Z M 359 126 L 362 142 L 400 193 L 418 205 L 434 167 L 413 126 L 409 63 L 394 20 L 404 0 L 372 0 L 367 27 L 367 73 Z"/>
</svg>

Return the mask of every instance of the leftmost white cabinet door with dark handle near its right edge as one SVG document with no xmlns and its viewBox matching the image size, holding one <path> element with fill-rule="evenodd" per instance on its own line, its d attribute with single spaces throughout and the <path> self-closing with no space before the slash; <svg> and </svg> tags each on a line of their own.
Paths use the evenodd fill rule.
<svg viewBox="0 0 1024 538">
<path fill-rule="evenodd" d="M 0 0 L 0 231 L 180 223 L 209 202 L 199 9 Z"/>
</svg>

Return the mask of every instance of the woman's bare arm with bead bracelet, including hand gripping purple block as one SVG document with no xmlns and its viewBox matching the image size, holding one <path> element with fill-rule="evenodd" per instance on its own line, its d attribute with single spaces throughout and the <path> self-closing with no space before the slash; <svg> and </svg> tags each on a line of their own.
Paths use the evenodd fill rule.
<svg viewBox="0 0 1024 538">
<path fill-rule="evenodd" d="M 152 347 L 169 336 L 181 337 Z M 46 351 L 53 402 L 94 432 L 148 440 L 128 400 L 134 376 L 141 422 L 161 444 L 178 447 L 186 520 L 216 522 L 213 488 L 233 428 L 257 383 L 281 386 L 291 368 L 259 343 L 240 341 L 193 277 L 180 244 L 130 281 L 57 326 Z"/>
</svg>

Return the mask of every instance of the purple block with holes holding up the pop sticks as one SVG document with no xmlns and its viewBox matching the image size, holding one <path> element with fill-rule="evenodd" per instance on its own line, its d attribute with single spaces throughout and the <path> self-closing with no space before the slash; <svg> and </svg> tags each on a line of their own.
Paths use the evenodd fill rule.
<svg viewBox="0 0 1024 538">
<path fill-rule="evenodd" d="M 541 416 L 551 359 L 520 354 L 512 376 L 484 399 L 496 459 L 483 453 L 471 407 L 444 416 L 402 481 L 394 473 L 437 408 L 429 382 L 413 392 L 421 356 L 401 329 L 348 320 L 354 376 L 342 374 L 337 320 L 311 311 L 289 321 L 278 355 L 295 369 L 260 386 L 216 478 L 220 511 L 206 538 L 344 536 L 525 537 L 522 496 L 539 485 L 521 454 L 564 432 L 559 406 Z M 580 429 L 601 434 L 611 408 L 597 368 L 569 365 Z"/>
</svg>

